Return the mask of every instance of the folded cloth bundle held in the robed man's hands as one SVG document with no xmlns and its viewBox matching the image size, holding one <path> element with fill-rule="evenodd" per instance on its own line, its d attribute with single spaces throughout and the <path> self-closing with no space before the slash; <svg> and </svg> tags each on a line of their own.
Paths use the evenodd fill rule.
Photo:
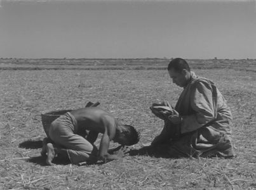
<svg viewBox="0 0 256 190">
<path fill-rule="evenodd" d="M 165 121 L 168 120 L 170 115 L 173 115 L 173 108 L 168 101 L 165 101 L 162 104 L 153 103 L 149 108 L 151 109 L 152 113 L 156 115 L 156 117 Z"/>
</svg>

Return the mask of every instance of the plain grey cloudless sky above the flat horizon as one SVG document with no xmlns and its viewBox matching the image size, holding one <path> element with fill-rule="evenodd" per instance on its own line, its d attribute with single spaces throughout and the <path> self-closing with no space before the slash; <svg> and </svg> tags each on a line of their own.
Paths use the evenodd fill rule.
<svg viewBox="0 0 256 190">
<path fill-rule="evenodd" d="M 0 58 L 256 59 L 256 0 L 0 0 Z"/>
</svg>

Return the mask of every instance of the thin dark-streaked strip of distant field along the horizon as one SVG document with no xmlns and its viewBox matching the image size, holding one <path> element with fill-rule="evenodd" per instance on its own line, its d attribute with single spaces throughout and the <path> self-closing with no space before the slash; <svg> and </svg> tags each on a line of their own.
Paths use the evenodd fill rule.
<svg viewBox="0 0 256 190">
<path fill-rule="evenodd" d="M 0 59 L 0 70 L 161 70 L 167 59 Z M 192 68 L 236 68 L 256 72 L 256 60 L 189 60 Z"/>
</svg>

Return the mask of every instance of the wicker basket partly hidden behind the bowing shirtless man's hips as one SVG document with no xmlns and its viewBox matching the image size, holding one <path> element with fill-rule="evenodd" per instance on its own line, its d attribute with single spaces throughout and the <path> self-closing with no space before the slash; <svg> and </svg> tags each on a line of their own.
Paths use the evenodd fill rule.
<svg viewBox="0 0 256 190">
<path fill-rule="evenodd" d="M 44 127 L 44 132 L 46 133 L 46 136 L 49 137 L 49 127 L 51 125 L 51 122 L 53 122 L 55 119 L 60 117 L 60 115 L 64 115 L 65 113 L 72 111 L 72 110 L 57 110 L 57 111 L 49 111 L 46 113 L 41 114 L 42 123 Z"/>
</svg>

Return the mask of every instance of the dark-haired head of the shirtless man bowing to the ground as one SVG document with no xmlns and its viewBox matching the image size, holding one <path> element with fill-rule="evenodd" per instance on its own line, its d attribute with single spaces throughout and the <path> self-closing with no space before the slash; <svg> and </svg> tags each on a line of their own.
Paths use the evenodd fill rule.
<svg viewBox="0 0 256 190">
<path fill-rule="evenodd" d="M 121 125 L 118 130 L 116 130 L 116 136 L 113 140 L 115 143 L 131 146 L 138 143 L 140 140 L 140 134 L 131 125 Z"/>
</svg>

